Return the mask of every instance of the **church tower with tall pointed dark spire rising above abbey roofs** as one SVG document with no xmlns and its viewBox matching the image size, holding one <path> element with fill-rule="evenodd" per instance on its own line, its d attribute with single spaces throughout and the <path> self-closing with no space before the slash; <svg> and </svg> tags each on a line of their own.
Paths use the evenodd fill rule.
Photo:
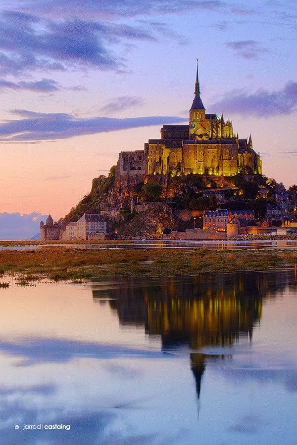
<svg viewBox="0 0 297 445">
<path fill-rule="evenodd" d="M 198 59 L 197 72 L 195 84 L 195 97 L 190 109 L 190 129 L 189 139 L 205 139 L 206 136 L 206 122 L 205 122 L 205 108 L 200 98 L 200 85 L 198 78 Z"/>
</svg>

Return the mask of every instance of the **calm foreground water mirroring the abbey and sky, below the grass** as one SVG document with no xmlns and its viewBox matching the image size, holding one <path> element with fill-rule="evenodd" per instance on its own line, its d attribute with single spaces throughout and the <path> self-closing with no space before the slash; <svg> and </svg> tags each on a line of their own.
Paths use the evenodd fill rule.
<svg viewBox="0 0 297 445">
<path fill-rule="evenodd" d="M 0 444 L 296 444 L 296 338 L 295 270 L 0 289 Z"/>
</svg>

